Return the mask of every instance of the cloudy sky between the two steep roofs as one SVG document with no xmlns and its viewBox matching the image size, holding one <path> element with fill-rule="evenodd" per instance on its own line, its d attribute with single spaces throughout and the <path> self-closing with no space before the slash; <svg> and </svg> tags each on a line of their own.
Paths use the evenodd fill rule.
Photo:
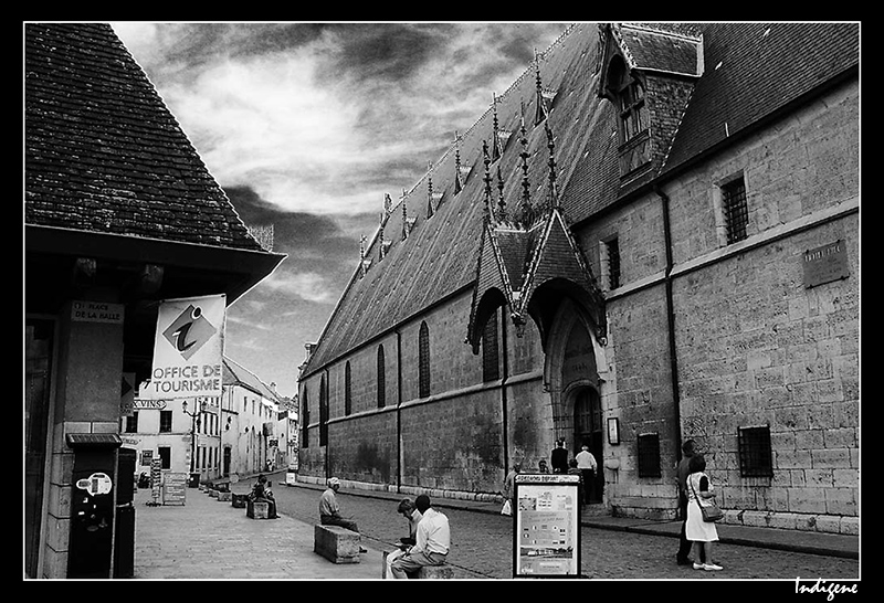
<svg viewBox="0 0 884 603">
<path fill-rule="evenodd" d="M 227 311 L 224 353 L 284 396 L 359 241 L 566 23 L 112 22 L 249 226 L 287 257 Z"/>
</svg>

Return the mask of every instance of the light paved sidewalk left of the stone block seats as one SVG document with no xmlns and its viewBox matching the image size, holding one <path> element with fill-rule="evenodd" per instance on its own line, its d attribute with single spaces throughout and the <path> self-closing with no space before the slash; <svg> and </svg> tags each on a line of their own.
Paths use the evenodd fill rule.
<svg viewBox="0 0 884 603">
<path fill-rule="evenodd" d="M 365 542 L 360 563 L 313 552 L 313 525 L 291 517 L 255 520 L 245 509 L 187 488 L 185 505 L 148 506 L 135 495 L 136 580 L 377 580 L 383 553 Z"/>
</svg>

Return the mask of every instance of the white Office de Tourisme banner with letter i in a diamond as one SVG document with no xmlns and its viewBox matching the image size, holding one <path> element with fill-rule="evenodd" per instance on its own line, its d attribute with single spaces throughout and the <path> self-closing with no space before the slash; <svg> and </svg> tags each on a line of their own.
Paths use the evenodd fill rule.
<svg viewBox="0 0 884 603">
<path fill-rule="evenodd" d="M 150 380 L 139 398 L 221 395 L 225 309 L 223 294 L 160 303 Z"/>
</svg>

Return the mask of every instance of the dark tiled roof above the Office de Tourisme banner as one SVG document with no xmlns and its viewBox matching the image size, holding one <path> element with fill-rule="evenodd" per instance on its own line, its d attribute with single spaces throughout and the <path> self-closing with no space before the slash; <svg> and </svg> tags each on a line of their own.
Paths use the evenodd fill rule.
<svg viewBox="0 0 884 603">
<path fill-rule="evenodd" d="M 109 25 L 24 33 L 28 225 L 262 251 Z"/>
</svg>

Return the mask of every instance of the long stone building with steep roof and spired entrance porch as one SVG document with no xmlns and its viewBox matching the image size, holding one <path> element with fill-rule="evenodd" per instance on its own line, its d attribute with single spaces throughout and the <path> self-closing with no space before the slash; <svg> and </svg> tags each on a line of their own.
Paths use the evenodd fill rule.
<svg viewBox="0 0 884 603">
<path fill-rule="evenodd" d="M 569 28 L 385 200 L 299 479 L 492 497 L 564 438 L 666 519 L 691 437 L 726 521 L 855 532 L 859 62 L 857 23 Z"/>
</svg>

